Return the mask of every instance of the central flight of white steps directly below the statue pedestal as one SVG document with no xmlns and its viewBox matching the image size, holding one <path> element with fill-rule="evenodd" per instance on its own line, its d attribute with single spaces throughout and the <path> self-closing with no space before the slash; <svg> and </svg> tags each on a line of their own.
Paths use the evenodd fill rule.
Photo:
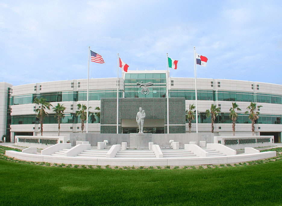
<svg viewBox="0 0 282 206">
<path fill-rule="evenodd" d="M 152 158 L 156 157 L 152 150 L 120 150 L 115 155 L 117 158 Z"/>
</svg>

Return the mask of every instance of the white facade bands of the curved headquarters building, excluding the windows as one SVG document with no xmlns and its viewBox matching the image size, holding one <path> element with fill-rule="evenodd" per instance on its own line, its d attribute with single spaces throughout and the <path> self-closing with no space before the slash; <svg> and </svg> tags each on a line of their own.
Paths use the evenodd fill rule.
<svg viewBox="0 0 282 206">
<path fill-rule="evenodd" d="M 128 71 L 127 74 L 139 74 L 139 73 L 165 73 L 166 71 Z M 122 73 L 122 78 L 120 78 L 120 90 L 123 91 L 124 97 L 124 88 L 125 88 L 125 73 Z M 8 87 L 11 87 L 12 97 L 19 97 L 21 95 L 40 95 L 43 93 L 55 93 L 55 92 L 81 92 L 87 90 L 87 79 L 78 79 L 78 80 L 67 80 L 67 81 L 52 81 L 52 82 L 42 82 L 35 84 L 26 84 L 19 86 L 12 86 L 8 83 L 0 83 L 1 90 L 1 99 L 4 102 L 0 108 L 0 126 L 1 134 L 5 134 L 6 131 L 6 122 L 7 122 L 7 97 L 8 97 Z M 168 89 L 171 91 L 174 90 L 195 90 L 195 79 L 194 78 L 168 78 Z M 89 91 L 106 90 L 105 92 L 110 92 L 117 90 L 117 78 L 100 78 L 100 79 L 89 79 Z M 141 90 L 141 88 L 140 88 Z M 252 95 L 262 93 L 267 95 L 272 95 L 277 98 L 282 98 L 282 85 L 278 84 L 269 84 L 261 82 L 252 82 L 252 81 L 240 81 L 240 80 L 225 80 L 225 79 L 210 79 L 210 78 L 197 78 L 197 91 L 199 90 L 208 90 L 214 91 L 215 95 L 218 91 L 227 91 L 227 92 L 245 92 L 252 93 Z M 269 97 L 269 98 L 272 98 Z M 281 97 L 279 97 L 281 96 Z M 275 98 L 274 97 L 274 98 Z M 242 111 L 238 112 L 243 114 L 249 106 L 250 101 L 234 101 L 237 102 Z M 262 105 L 260 108 L 261 115 L 270 115 L 279 118 L 282 115 L 282 104 L 281 103 L 262 103 L 256 102 L 257 105 Z M 58 102 L 51 102 L 53 106 L 56 106 Z M 77 104 L 86 104 L 86 100 L 77 101 L 60 101 L 60 104 L 64 104 L 66 110 L 64 113 L 75 113 L 77 109 Z M 186 109 L 189 109 L 189 104 L 195 104 L 195 100 L 186 100 Z M 211 104 L 215 104 L 221 108 L 221 113 L 229 114 L 229 109 L 232 106 L 232 101 L 223 101 L 223 100 L 198 100 L 198 112 L 204 113 L 206 109 L 210 109 Z M 97 106 L 100 107 L 100 100 L 90 100 L 89 106 L 92 107 L 90 111 L 96 111 Z M 18 104 L 11 105 L 11 116 L 23 116 L 23 115 L 36 115 L 35 109 L 38 108 L 38 105 L 34 103 L 27 104 Z M 52 114 L 52 110 L 48 111 L 49 114 Z M 261 118 L 261 116 L 260 116 Z M 61 124 L 60 135 L 66 135 L 72 132 L 81 132 L 80 122 L 78 123 L 64 123 Z M 215 123 L 215 136 L 223 135 L 233 135 L 232 125 L 230 123 Z M 11 125 L 11 141 L 14 141 L 14 135 L 17 132 L 32 132 L 33 135 L 40 134 L 40 125 L 36 123 L 32 124 L 13 124 Z M 199 123 L 198 125 L 199 132 L 210 132 L 211 124 L 210 123 Z M 90 133 L 99 133 L 100 124 L 99 123 L 90 123 L 88 131 Z M 278 134 L 278 140 L 276 142 L 281 142 L 281 131 L 282 124 L 281 122 L 276 122 L 275 124 L 261 124 L 258 123 L 255 125 L 255 135 L 260 135 L 260 132 L 276 132 Z M 86 132 L 86 123 L 85 130 Z M 186 124 L 186 132 L 189 132 L 188 124 Z M 196 132 L 196 124 L 192 124 L 192 132 Z M 58 124 L 44 124 L 43 125 L 43 135 L 57 135 L 58 134 Z M 1 136 L 2 136 L 1 135 Z M 236 124 L 236 135 L 252 135 L 251 124 L 246 123 L 237 123 Z"/>
</svg>

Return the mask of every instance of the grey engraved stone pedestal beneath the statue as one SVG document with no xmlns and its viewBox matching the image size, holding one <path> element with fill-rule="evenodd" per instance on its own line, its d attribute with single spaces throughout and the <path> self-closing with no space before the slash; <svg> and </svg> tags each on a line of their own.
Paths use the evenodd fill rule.
<svg viewBox="0 0 282 206">
<path fill-rule="evenodd" d="M 149 147 L 152 142 L 151 133 L 130 133 L 130 147 Z"/>
</svg>

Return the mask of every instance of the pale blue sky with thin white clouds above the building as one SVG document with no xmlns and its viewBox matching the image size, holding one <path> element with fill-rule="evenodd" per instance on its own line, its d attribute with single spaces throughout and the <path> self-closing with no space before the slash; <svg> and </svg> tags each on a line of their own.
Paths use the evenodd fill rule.
<svg viewBox="0 0 282 206">
<path fill-rule="evenodd" d="M 1 1 L 0 81 L 21 85 L 166 70 L 194 78 L 194 49 L 208 58 L 197 78 L 282 84 L 282 1 Z M 119 70 L 121 77 L 121 69 Z"/>
</svg>

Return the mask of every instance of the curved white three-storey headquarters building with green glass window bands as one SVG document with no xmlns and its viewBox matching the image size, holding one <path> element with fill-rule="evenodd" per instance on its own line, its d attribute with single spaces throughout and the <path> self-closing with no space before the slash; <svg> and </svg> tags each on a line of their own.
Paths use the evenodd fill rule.
<svg viewBox="0 0 282 206">
<path fill-rule="evenodd" d="M 167 77 L 168 75 L 168 77 Z M 168 80 L 168 81 L 167 81 Z M 195 78 L 170 77 L 166 70 L 128 71 L 119 78 L 119 119 L 117 126 L 117 78 L 89 79 L 91 112 L 101 108 L 101 119 L 91 115 L 89 133 L 135 133 L 136 113 L 142 107 L 146 113 L 144 132 L 167 133 L 167 98 L 169 91 L 169 133 L 188 133 L 185 110 L 195 105 Z M 139 84 L 138 84 L 139 83 Z M 147 84 L 148 83 L 148 84 Z M 146 87 L 145 87 L 146 86 Z M 148 91 L 149 90 L 149 91 Z M 145 92 L 144 92 L 145 91 Z M 66 109 L 61 121 L 60 135 L 81 132 L 80 119 L 75 116 L 77 104 L 86 104 L 87 79 L 52 81 L 13 86 L 0 83 L 0 135 L 39 135 L 40 124 L 34 98 L 45 98 L 53 106 L 63 104 Z M 197 78 L 199 132 L 211 131 L 211 118 L 205 116 L 211 104 L 221 109 L 215 120 L 215 136 L 233 135 L 229 109 L 236 102 L 238 112 L 236 135 L 251 135 L 251 122 L 246 107 L 250 102 L 262 105 L 255 124 L 255 135 L 274 135 L 281 142 L 282 85 L 252 81 Z M 50 110 L 45 117 L 43 135 L 57 135 L 58 124 Z M 86 126 L 83 132 L 86 132 Z M 193 121 L 192 132 L 196 132 Z"/>
</svg>

